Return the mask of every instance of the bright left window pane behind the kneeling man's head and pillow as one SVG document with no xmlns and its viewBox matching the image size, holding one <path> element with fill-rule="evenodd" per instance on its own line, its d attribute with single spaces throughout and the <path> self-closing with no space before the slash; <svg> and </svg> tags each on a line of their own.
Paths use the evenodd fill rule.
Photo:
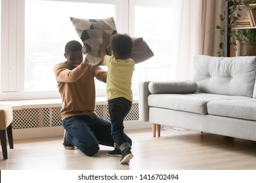
<svg viewBox="0 0 256 183">
<path fill-rule="evenodd" d="M 65 61 L 66 42 L 79 41 L 70 17 L 115 18 L 115 8 L 112 4 L 26 0 L 24 91 L 56 90 L 53 66 Z"/>
</svg>

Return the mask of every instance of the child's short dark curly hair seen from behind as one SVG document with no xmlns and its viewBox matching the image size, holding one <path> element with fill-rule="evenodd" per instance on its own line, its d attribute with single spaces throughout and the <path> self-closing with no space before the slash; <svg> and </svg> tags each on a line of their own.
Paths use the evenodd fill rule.
<svg viewBox="0 0 256 183">
<path fill-rule="evenodd" d="M 117 33 L 116 35 L 112 35 L 110 46 L 116 58 L 128 59 L 131 57 L 133 40 L 127 34 Z"/>
</svg>

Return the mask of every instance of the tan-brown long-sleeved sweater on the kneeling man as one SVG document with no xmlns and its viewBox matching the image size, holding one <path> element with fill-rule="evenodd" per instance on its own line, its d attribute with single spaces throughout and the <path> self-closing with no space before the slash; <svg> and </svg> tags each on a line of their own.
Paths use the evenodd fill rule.
<svg viewBox="0 0 256 183">
<path fill-rule="evenodd" d="M 85 61 L 73 70 L 66 61 L 56 64 L 53 70 L 62 98 L 62 120 L 71 116 L 95 115 L 95 77 L 106 82 L 106 71 Z"/>
</svg>

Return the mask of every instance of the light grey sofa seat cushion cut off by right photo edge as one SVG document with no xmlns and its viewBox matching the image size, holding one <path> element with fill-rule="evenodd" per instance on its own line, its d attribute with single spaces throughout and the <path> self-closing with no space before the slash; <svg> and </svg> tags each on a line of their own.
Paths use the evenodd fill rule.
<svg viewBox="0 0 256 183">
<path fill-rule="evenodd" d="M 209 114 L 256 120 L 256 99 L 219 100 L 207 103 Z"/>
</svg>

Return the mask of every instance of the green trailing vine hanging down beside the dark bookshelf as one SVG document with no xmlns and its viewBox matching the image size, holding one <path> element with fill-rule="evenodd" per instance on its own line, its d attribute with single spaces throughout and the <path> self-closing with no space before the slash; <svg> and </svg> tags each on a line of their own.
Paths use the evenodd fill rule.
<svg viewBox="0 0 256 183">
<path fill-rule="evenodd" d="M 249 8 L 251 8 L 251 3 L 254 2 L 255 0 L 225 0 L 223 12 L 219 15 L 219 18 L 221 21 L 226 22 L 226 26 L 221 27 L 220 25 L 217 25 L 216 27 L 216 29 L 221 32 L 221 35 L 223 35 L 223 41 L 221 41 L 219 44 L 219 48 L 221 50 L 217 52 L 218 56 L 225 55 L 225 42 L 228 42 L 234 50 L 238 50 L 236 44 L 236 36 L 239 34 L 240 31 L 234 29 L 234 27 L 236 25 L 236 21 L 239 20 L 239 18 L 241 17 L 240 12 L 242 12 L 244 8 L 246 8 L 246 10 L 249 10 Z M 229 19 L 229 21 L 227 19 Z"/>
</svg>

